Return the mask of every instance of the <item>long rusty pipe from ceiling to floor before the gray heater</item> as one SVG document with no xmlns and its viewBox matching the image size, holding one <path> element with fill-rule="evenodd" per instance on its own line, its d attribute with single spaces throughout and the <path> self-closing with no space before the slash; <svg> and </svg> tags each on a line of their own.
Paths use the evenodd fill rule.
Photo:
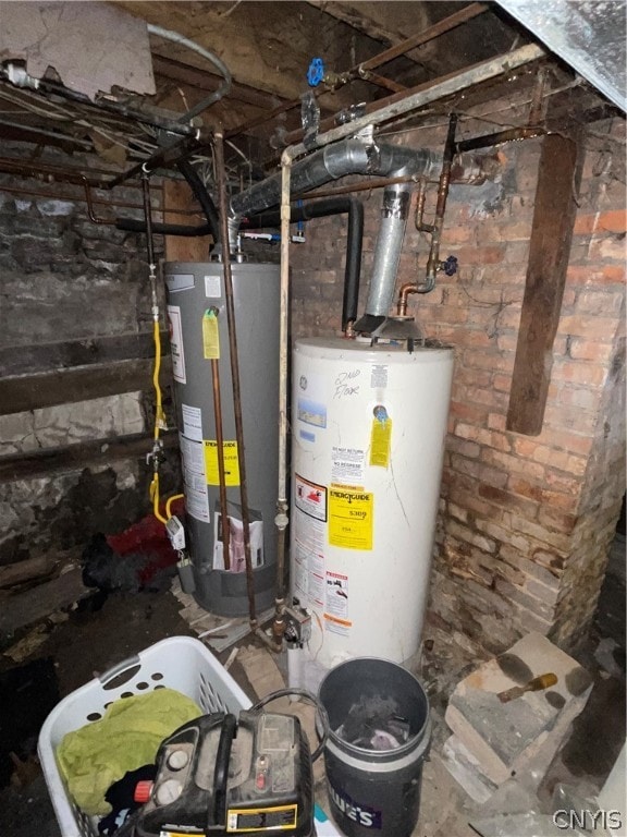
<svg viewBox="0 0 627 837">
<path fill-rule="evenodd" d="M 233 298 L 233 272 L 229 247 L 229 205 L 226 196 L 226 169 L 224 167 L 223 131 L 214 134 L 216 172 L 218 180 L 218 204 L 220 211 L 220 239 L 222 242 L 222 268 L 224 272 L 224 296 L 226 299 L 226 318 L 229 323 L 229 351 L 231 354 L 231 378 L 233 385 L 233 411 L 235 413 L 235 437 L 239 461 L 239 497 L 242 504 L 242 525 L 244 529 L 244 558 L 246 561 L 246 590 L 248 593 L 248 615 L 250 628 L 257 629 L 255 610 L 255 579 L 250 557 L 250 512 L 248 509 L 248 483 L 246 481 L 246 451 L 244 448 L 244 426 L 242 422 L 242 390 L 239 387 L 239 362 L 237 355 L 237 327 L 235 324 L 235 302 Z"/>
</svg>

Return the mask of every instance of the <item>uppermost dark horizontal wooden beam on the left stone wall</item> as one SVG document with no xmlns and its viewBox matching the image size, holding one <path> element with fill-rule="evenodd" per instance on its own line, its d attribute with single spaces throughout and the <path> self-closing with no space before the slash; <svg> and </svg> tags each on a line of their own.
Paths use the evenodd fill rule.
<svg viewBox="0 0 627 837">
<path fill-rule="evenodd" d="M 161 350 L 170 352 L 167 331 L 161 332 Z M 152 357 L 152 332 L 89 337 L 37 345 L 5 347 L 0 349 L 0 375 L 29 375 L 53 372 L 69 366 L 88 366 Z"/>
</svg>

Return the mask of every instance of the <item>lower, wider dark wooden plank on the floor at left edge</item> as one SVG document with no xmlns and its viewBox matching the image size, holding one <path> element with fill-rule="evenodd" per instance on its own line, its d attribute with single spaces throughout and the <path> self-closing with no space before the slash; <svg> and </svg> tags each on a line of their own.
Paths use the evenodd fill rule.
<svg viewBox="0 0 627 837">
<path fill-rule="evenodd" d="M 0 609 L 0 634 L 11 634 L 20 628 L 35 624 L 56 610 L 70 607 L 90 592 L 83 584 L 81 567 L 73 567 L 46 584 L 4 599 Z"/>
</svg>

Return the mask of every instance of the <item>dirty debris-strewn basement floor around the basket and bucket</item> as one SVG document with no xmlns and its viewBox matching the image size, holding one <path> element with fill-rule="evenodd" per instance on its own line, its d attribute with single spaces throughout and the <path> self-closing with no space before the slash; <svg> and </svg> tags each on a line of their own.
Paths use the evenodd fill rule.
<svg viewBox="0 0 627 837">
<path fill-rule="evenodd" d="M 620 743 L 625 741 L 625 542 L 615 550 L 603 598 L 604 606 L 588 646 L 579 662 L 595 677 L 595 688 L 585 713 L 554 760 L 539 790 L 539 805 L 548 806 L 555 785 L 566 781 L 583 796 L 597 793 L 611 769 Z M 180 615 L 181 604 L 171 593 L 111 596 L 97 612 L 74 615 L 51 631 L 37 656 L 56 660 L 62 696 L 87 682 L 120 659 L 148 647 L 169 635 L 195 635 Z M 612 638 L 611 657 L 616 667 L 611 674 L 594 658 L 601 638 Z M 248 638 L 246 644 L 250 644 Z M 222 662 L 229 651 L 219 654 Z M 607 667 L 612 667 L 607 663 Z M 7 667 L 7 664 L 3 664 Z M 430 691 L 434 731 L 430 760 L 425 763 L 420 817 L 413 837 L 471 837 L 476 832 L 468 821 L 481 808 L 467 797 L 451 777 L 440 757 L 448 731 L 443 723 L 447 695 L 474 662 L 451 643 L 448 636 L 435 636 L 430 658 L 421 662 L 422 682 Z M 235 660 L 230 674 L 254 699 L 245 669 Z M 426 679 L 425 679 L 426 678 Z M 522 784 L 525 777 L 518 777 Z M 325 802 L 323 784 L 318 785 L 320 801 Z M 511 800 L 495 799 L 496 805 Z M 490 802 L 487 808 L 490 809 Z M 0 791 L 1 837 L 66 837 L 61 835 L 39 776 L 22 788 Z M 509 836 L 508 836 L 509 837 Z M 511 837 L 514 837 L 513 835 Z"/>
</svg>

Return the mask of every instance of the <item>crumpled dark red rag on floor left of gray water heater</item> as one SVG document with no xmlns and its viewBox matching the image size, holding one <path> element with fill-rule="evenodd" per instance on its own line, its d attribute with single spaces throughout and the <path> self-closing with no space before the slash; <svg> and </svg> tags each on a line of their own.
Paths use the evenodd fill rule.
<svg viewBox="0 0 627 837">
<path fill-rule="evenodd" d="M 171 510 L 173 514 L 181 517 L 185 510 L 184 499 L 174 500 Z M 161 513 L 165 515 L 164 508 Z M 147 514 L 124 532 L 107 535 L 107 543 L 120 557 L 133 554 L 150 558 L 139 572 L 138 581 L 142 586 L 147 584 L 159 570 L 172 567 L 179 560 L 177 553 L 170 546 L 165 526 L 157 520 L 155 514 Z"/>
</svg>

